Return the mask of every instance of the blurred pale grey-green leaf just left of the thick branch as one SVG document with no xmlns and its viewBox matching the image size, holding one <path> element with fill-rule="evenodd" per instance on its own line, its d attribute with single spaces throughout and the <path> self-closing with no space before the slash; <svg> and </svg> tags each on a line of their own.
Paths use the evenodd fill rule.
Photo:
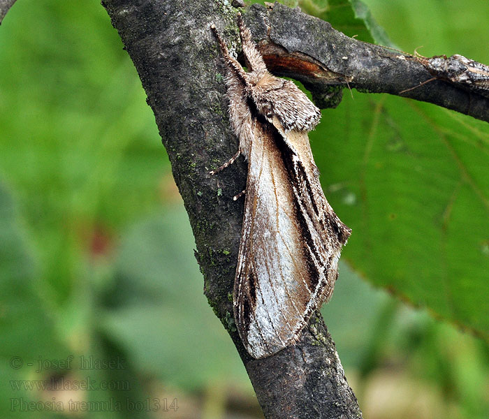
<svg viewBox="0 0 489 419">
<path fill-rule="evenodd" d="M 101 316 L 103 330 L 140 371 L 165 383 L 195 389 L 229 375 L 246 382 L 238 353 L 203 295 L 193 247 L 183 209 L 134 226 L 122 241 L 117 293 L 110 293 L 116 297 Z"/>
</svg>

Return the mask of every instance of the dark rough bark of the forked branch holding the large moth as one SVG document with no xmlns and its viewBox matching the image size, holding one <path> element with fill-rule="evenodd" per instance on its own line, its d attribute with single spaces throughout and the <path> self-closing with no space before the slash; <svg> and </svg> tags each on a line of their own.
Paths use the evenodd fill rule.
<svg viewBox="0 0 489 419">
<path fill-rule="evenodd" d="M 103 0 L 147 93 L 173 175 L 189 214 L 204 291 L 233 339 L 267 418 L 361 418 L 320 314 L 296 346 L 253 360 L 235 330 L 232 291 L 246 183 L 239 159 L 211 177 L 238 149 L 226 116 L 224 66 L 209 29 L 237 45 L 236 10 L 227 0 Z M 330 85 L 396 94 L 430 76 L 414 61 L 362 43 L 330 24 L 279 4 L 245 15 L 270 69 L 298 78 L 323 102 Z M 343 57 L 346 57 L 344 59 Z M 418 100 L 489 120 L 488 100 L 442 82 L 407 92 Z M 324 104 L 324 103 L 323 103 Z M 212 337 L 210 337 L 212 339 Z"/>
</svg>

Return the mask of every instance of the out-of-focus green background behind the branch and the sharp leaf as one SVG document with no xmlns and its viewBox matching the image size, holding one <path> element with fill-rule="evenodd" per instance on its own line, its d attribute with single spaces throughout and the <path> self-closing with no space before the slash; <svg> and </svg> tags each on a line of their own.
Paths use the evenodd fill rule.
<svg viewBox="0 0 489 419">
<path fill-rule="evenodd" d="M 365 3 L 402 50 L 489 63 L 487 1 Z M 0 27 L 2 417 L 263 418 L 194 247 L 100 2 L 18 0 Z M 481 339 L 345 263 L 322 311 L 365 418 L 489 418 Z"/>
</svg>

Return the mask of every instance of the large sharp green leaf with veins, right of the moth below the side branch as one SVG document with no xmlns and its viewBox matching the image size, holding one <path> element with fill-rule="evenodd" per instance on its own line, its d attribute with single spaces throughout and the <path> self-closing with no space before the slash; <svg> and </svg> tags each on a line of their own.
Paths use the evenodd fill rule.
<svg viewBox="0 0 489 419">
<path fill-rule="evenodd" d="M 345 95 L 310 135 L 344 258 L 377 286 L 489 337 L 489 126 L 434 105 Z"/>
</svg>

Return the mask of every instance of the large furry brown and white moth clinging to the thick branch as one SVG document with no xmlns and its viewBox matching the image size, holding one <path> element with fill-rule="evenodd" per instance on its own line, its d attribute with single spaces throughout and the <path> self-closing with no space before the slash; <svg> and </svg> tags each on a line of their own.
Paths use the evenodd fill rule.
<svg viewBox="0 0 489 419">
<path fill-rule="evenodd" d="M 211 173 L 240 154 L 248 161 L 233 311 L 245 348 L 264 358 L 293 345 L 329 300 L 351 230 L 326 200 L 312 157 L 307 132 L 319 123 L 319 109 L 291 80 L 268 72 L 240 15 L 238 26 L 247 72 L 211 26 L 226 62 L 228 113 L 240 142 Z"/>
</svg>

